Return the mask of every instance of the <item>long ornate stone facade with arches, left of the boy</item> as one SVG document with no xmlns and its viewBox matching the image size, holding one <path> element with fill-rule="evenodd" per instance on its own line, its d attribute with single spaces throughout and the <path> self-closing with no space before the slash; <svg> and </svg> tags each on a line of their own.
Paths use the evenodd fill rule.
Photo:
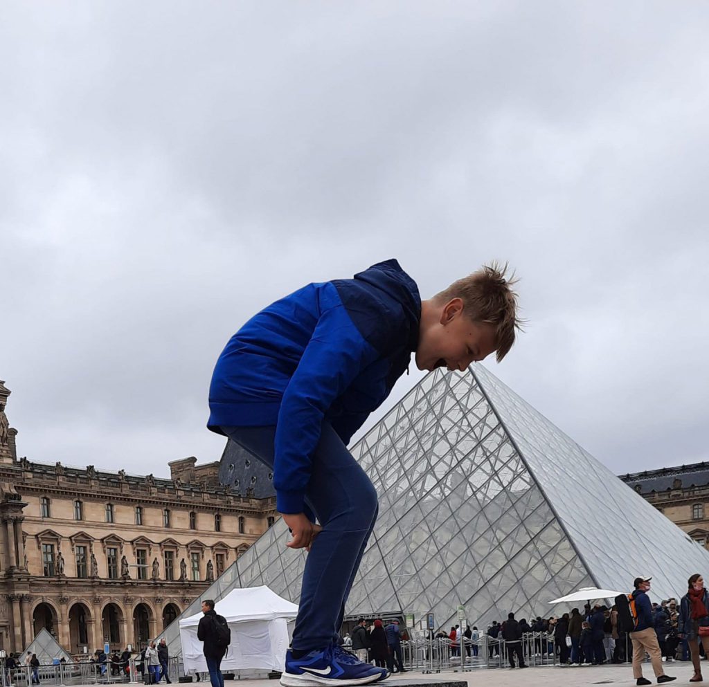
<svg viewBox="0 0 709 687">
<path fill-rule="evenodd" d="M 276 517 L 275 499 L 218 484 L 219 462 L 171 479 L 16 455 L 0 382 L 0 649 L 47 628 L 72 654 L 142 647 Z"/>
</svg>

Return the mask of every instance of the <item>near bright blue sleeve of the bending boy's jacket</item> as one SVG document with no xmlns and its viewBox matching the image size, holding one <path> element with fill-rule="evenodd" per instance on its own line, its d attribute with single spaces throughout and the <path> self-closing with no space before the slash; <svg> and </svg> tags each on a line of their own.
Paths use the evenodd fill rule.
<svg viewBox="0 0 709 687">
<path fill-rule="evenodd" d="M 279 513 L 303 512 L 325 411 L 378 356 L 354 327 L 344 306 L 330 307 L 320 316 L 279 411 L 274 457 Z"/>
</svg>

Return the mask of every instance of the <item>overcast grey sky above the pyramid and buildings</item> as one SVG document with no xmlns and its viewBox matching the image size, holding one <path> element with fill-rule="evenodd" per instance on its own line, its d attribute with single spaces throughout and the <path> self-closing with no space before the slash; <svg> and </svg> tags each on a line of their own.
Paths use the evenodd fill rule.
<svg viewBox="0 0 709 687">
<path fill-rule="evenodd" d="M 487 365 L 611 470 L 709 459 L 707 35 L 675 1 L 4 1 L 18 455 L 218 460 L 229 337 L 396 257 L 423 297 L 508 261 Z"/>
</svg>

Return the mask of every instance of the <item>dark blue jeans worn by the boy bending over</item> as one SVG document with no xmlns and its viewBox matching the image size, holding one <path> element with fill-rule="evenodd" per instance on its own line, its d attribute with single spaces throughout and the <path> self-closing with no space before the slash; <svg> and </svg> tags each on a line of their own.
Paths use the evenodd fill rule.
<svg viewBox="0 0 709 687">
<path fill-rule="evenodd" d="M 275 426 L 221 429 L 255 458 L 274 466 Z M 305 501 L 323 531 L 306 560 L 291 646 L 309 652 L 337 640 L 345 601 L 378 512 L 372 481 L 328 422 L 323 422 L 313 452 Z"/>
</svg>

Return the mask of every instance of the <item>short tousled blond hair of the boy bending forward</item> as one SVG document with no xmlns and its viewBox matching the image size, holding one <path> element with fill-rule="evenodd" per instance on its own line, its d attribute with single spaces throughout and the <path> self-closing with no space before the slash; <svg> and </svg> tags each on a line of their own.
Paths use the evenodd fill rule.
<svg viewBox="0 0 709 687">
<path fill-rule="evenodd" d="M 507 269 L 507 263 L 493 261 L 435 295 L 437 302 L 444 303 L 460 298 L 469 319 L 495 327 L 498 363 L 512 348 L 515 331 L 523 324 L 517 314 L 517 293 L 512 290 L 518 280 L 514 273 L 506 276 Z"/>
</svg>

